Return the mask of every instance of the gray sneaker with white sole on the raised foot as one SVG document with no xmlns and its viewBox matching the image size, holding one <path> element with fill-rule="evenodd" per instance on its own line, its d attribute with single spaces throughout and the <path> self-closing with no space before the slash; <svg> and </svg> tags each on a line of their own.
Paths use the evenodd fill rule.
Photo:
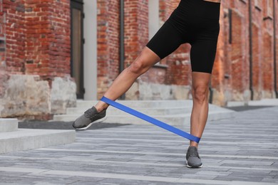
<svg viewBox="0 0 278 185">
<path fill-rule="evenodd" d="M 81 117 L 78 117 L 75 122 L 73 122 L 73 128 L 75 129 L 88 129 L 93 123 L 102 122 L 106 120 L 106 110 L 98 112 L 96 107 L 91 107 L 91 109 L 86 110 Z"/>
</svg>

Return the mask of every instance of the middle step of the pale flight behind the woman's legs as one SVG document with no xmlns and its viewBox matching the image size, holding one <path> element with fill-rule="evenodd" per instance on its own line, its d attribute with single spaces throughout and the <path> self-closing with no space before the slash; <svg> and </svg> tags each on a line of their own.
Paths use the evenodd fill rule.
<svg viewBox="0 0 278 185">
<path fill-rule="evenodd" d="M 178 115 L 185 112 L 190 112 L 192 107 L 157 107 L 157 108 L 136 108 L 137 111 L 148 115 Z M 88 108 L 86 107 L 72 107 L 66 110 L 66 115 L 82 115 Z M 115 108 L 108 108 L 108 115 L 124 115 L 125 112 Z"/>
</svg>

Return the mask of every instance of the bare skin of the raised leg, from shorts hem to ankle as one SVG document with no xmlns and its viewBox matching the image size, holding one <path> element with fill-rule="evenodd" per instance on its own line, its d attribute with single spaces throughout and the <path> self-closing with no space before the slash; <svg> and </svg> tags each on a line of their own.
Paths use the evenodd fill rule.
<svg viewBox="0 0 278 185">
<path fill-rule="evenodd" d="M 145 73 L 149 68 L 155 65 L 155 63 L 158 63 L 159 60 L 160 58 L 148 47 L 143 48 L 138 58 L 118 75 L 104 96 L 108 97 L 110 100 L 118 99 L 118 97 L 123 95 L 123 93 L 133 85 L 140 75 Z M 108 107 L 108 104 L 99 101 L 95 107 L 98 112 L 101 112 L 101 110 Z"/>
</svg>

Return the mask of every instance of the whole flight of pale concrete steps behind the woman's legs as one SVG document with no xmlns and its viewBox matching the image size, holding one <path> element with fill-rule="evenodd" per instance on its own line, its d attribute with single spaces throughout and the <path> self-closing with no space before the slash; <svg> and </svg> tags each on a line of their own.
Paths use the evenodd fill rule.
<svg viewBox="0 0 278 185">
<path fill-rule="evenodd" d="M 192 110 L 192 100 L 150 100 L 150 101 L 118 101 L 123 105 L 143 112 L 145 115 L 154 117 L 157 120 L 166 122 L 169 125 L 187 125 L 190 123 Z M 67 115 L 54 115 L 54 121 L 73 122 L 77 117 L 83 114 L 88 107 L 91 107 L 93 101 L 78 100 L 78 107 L 68 108 Z M 88 106 L 90 105 L 90 106 Z M 228 110 L 216 105 L 209 105 L 208 120 L 219 120 L 230 118 L 234 115 L 234 110 Z M 107 111 L 108 123 L 123 124 L 148 124 L 144 120 L 129 115 L 126 112 L 109 107 Z"/>
</svg>

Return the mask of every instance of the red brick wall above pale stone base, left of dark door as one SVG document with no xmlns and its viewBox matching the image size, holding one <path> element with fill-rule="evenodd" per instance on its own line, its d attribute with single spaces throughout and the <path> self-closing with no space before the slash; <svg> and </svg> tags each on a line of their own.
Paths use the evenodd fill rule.
<svg viewBox="0 0 278 185">
<path fill-rule="evenodd" d="M 70 73 L 70 1 L 4 0 L 6 70 L 43 79 Z"/>
</svg>

